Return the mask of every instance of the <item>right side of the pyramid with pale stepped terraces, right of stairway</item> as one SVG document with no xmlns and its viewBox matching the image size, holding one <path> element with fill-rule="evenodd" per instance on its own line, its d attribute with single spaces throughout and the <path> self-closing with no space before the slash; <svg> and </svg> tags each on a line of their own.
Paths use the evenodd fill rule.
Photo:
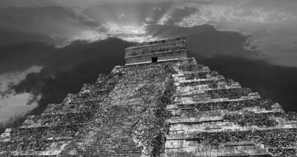
<svg viewBox="0 0 297 157">
<path fill-rule="evenodd" d="M 178 99 L 167 106 L 171 117 L 161 156 L 297 155 L 295 112 L 284 112 L 195 59 L 177 65 Z"/>
</svg>

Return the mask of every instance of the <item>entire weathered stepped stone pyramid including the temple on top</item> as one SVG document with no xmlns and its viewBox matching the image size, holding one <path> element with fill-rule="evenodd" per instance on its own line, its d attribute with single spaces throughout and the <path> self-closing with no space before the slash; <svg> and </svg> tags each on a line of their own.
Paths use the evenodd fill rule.
<svg viewBox="0 0 297 157">
<path fill-rule="evenodd" d="M 185 39 L 126 47 L 126 65 L 0 136 L 1 156 L 296 156 L 297 114 L 187 58 Z"/>
</svg>

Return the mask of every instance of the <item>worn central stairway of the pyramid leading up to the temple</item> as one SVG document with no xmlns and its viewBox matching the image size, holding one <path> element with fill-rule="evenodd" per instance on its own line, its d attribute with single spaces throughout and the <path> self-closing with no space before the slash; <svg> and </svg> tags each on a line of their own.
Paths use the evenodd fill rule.
<svg viewBox="0 0 297 157">
<path fill-rule="evenodd" d="M 168 128 L 166 106 L 172 103 L 175 87 L 173 65 L 174 61 L 119 67 L 121 79 L 104 100 L 107 120 L 90 126 L 91 133 L 67 145 L 62 156 L 159 155 Z"/>
</svg>

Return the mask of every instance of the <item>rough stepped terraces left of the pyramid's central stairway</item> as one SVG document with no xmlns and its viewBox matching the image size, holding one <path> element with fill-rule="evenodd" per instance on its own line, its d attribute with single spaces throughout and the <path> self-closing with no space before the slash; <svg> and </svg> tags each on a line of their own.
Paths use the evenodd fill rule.
<svg viewBox="0 0 297 157">
<path fill-rule="evenodd" d="M 105 86 L 110 87 L 108 83 Z M 84 92 L 69 96 L 61 104 L 48 105 L 42 115 L 28 116 L 21 128 L 9 129 L 1 136 L 1 154 L 57 155 L 71 141 L 106 121 L 108 112 L 103 100 L 108 90 L 101 94 L 99 89 L 84 88 Z"/>
</svg>

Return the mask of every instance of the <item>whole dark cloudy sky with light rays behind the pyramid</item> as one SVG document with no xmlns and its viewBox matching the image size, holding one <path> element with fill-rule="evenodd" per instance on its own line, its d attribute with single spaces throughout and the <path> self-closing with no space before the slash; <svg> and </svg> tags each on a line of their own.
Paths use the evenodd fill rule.
<svg viewBox="0 0 297 157">
<path fill-rule="evenodd" d="M 124 65 L 132 42 L 185 37 L 188 55 L 297 111 L 295 0 L 2 0 L 0 132 Z"/>
</svg>

